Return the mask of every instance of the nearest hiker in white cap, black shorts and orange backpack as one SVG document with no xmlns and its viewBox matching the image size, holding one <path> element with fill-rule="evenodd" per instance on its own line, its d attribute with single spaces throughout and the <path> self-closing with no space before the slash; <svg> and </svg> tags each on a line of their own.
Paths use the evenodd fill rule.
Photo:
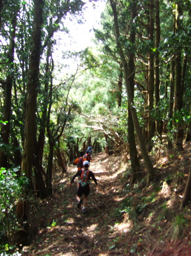
<svg viewBox="0 0 191 256">
<path fill-rule="evenodd" d="M 89 192 L 90 192 L 89 180 L 90 180 L 90 178 L 93 179 L 93 181 L 96 184 L 96 188 L 97 188 L 97 180 L 96 180 L 96 178 L 94 176 L 94 173 L 91 170 L 88 169 L 89 162 L 88 161 L 84 161 L 83 162 L 83 166 L 84 166 L 84 168 L 82 168 L 81 170 L 78 170 L 78 172 L 72 177 L 71 182 L 70 182 L 69 185 L 71 187 L 72 182 L 74 181 L 74 179 L 76 177 L 78 177 L 78 176 L 80 177 L 79 187 L 78 187 L 77 196 L 76 196 L 76 199 L 78 201 L 77 207 L 78 208 L 81 207 L 81 204 L 82 204 L 81 196 L 84 194 L 84 204 L 83 204 L 83 207 L 82 207 L 82 212 L 86 213 L 86 206 L 87 206 L 87 201 L 88 201 L 88 195 L 89 195 Z"/>
</svg>

